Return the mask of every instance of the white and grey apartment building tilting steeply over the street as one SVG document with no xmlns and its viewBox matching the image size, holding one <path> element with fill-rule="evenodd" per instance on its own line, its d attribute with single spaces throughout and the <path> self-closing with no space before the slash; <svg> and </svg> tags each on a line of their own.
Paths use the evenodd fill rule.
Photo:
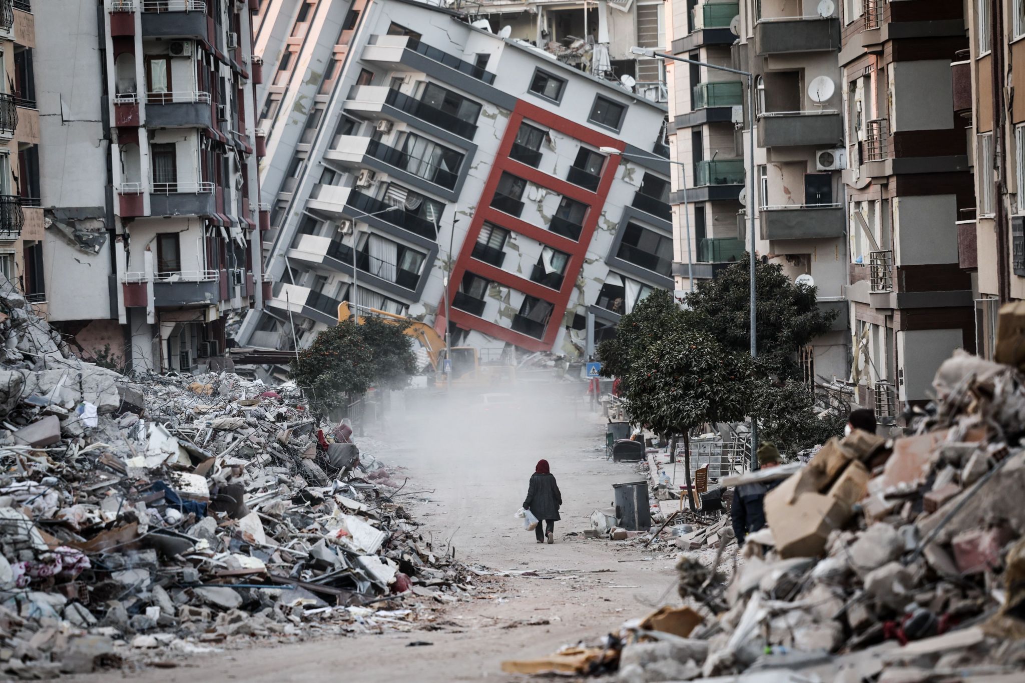
<svg viewBox="0 0 1025 683">
<path fill-rule="evenodd" d="M 289 75 L 268 88 L 274 284 L 245 344 L 303 346 L 342 301 L 442 332 L 448 275 L 454 343 L 579 356 L 588 313 L 600 340 L 672 286 L 664 106 L 459 12 L 303 4 L 280 31 L 304 32 L 295 55 L 262 55 Z"/>
</svg>

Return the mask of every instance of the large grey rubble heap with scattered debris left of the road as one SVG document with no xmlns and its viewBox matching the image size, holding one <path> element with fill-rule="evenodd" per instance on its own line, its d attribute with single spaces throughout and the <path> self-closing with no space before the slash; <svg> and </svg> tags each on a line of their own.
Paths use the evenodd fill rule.
<svg viewBox="0 0 1025 683">
<path fill-rule="evenodd" d="M 294 388 L 83 362 L 0 287 L 0 672 L 408 630 L 474 590 Z"/>
</svg>

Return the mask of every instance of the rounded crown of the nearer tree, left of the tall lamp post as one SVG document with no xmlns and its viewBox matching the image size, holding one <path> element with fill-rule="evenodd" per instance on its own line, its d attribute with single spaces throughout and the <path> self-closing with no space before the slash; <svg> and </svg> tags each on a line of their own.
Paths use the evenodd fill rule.
<svg viewBox="0 0 1025 683">
<path fill-rule="evenodd" d="M 627 411 L 656 433 L 742 420 L 751 394 L 750 359 L 710 336 L 675 328 L 636 356 L 626 375 Z"/>
</svg>

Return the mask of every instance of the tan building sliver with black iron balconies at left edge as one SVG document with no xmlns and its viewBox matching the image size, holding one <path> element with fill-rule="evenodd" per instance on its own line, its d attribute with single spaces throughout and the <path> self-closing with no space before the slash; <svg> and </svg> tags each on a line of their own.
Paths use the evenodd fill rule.
<svg viewBox="0 0 1025 683">
<path fill-rule="evenodd" d="M 39 111 L 28 0 L 0 0 L 0 272 L 46 310 L 43 212 L 39 207 Z"/>
</svg>

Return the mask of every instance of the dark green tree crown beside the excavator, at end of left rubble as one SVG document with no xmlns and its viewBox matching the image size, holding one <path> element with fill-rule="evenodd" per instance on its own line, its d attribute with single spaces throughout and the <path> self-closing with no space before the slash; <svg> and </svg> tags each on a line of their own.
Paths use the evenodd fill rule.
<svg viewBox="0 0 1025 683">
<path fill-rule="evenodd" d="M 400 387 L 416 371 L 406 326 L 367 318 L 322 331 L 291 364 L 291 376 L 321 412 L 346 407 L 371 385 Z"/>
</svg>

